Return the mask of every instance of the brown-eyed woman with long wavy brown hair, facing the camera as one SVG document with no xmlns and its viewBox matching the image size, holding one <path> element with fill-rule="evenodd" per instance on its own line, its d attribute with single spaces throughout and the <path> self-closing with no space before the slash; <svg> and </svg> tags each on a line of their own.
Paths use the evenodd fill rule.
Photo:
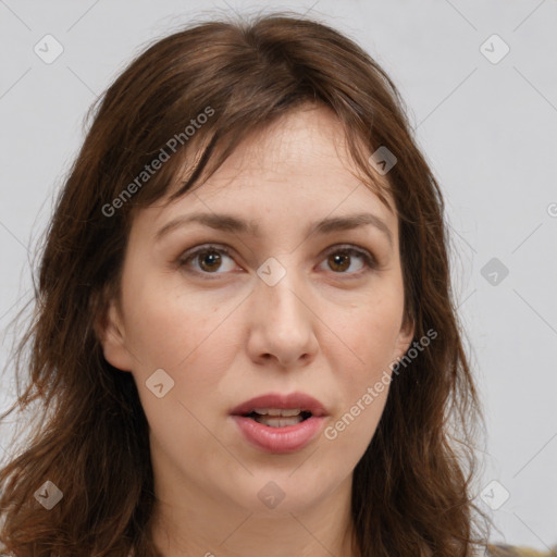
<svg viewBox="0 0 557 557">
<path fill-rule="evenodd" d="M 37 302 L 18 404 L 45 414 L 0 473 L 13 555 L 483 555 L 443 197 L 338 32 L 212 21 L 139 55 Z"/>
</svg>

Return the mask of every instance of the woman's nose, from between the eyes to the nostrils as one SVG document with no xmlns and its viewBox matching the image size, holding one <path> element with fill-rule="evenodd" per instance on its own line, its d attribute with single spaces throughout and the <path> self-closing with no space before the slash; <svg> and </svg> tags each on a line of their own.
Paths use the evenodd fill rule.
<svg viewBox="0 0 557 557">
<path fill-rule="evenodd" d="M 311 300 L 294 270 L 273 286 L 258 280 L 250 296 L 248 351 L 252 361 L 282 368 L 310 363 L 318 351 L 315 326 L 319 319 Z"/>
</svg>

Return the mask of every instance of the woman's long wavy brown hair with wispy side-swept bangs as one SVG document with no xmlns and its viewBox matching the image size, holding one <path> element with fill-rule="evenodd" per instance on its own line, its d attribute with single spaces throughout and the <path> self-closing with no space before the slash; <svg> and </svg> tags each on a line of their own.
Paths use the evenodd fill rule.
<svg viewBox="0 0 557 557">
<path fill-rule="evenodd" d="M 119 295 L 134 210 L 168 195 L 184 169 L 188 178 L 171 199 L 202 183 L 247 134 L 307 102 L 336 114 L 362 178 L 383 200 L 369 157 L 382 146 L 396 157 L 387 178 L 405 321 L 413 321 L 416 339 L 437 334 L 395 368 L 355 469 L 358 550 L 465 557 L 481 542 L 470 486 L 482 417 L 450 288 L 442 193 L 377 63 L 323 23 L 275 13 L 197 22 L 157 41 L 94 107 L 45 235 L 36 311 L 14 358 L 26 386 L 9 412 L 36 400 L 44 412 L 0 471 L 0 541 L 17 557 L 160 555 L 147 528 L 154 503 L 147 420 L 132 374 L 106 361 L 97 334 Z M 147 176 L 156 158 L 164 163 Z M 63 493 L 48 511 L 34 497 L 47 480 Z"/>
</svg>

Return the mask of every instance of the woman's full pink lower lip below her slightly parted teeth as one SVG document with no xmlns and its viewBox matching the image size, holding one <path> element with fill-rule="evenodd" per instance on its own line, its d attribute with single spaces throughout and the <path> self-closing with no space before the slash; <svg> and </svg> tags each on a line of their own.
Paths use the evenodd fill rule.
<svg viewBox="0 0 557 557">
<path fill-rule="evenodd" d="M 311 443 L 321 430 L 324 417 L 312 416 L 296 425 L 271 428 L 244 416 L 233 416 L 244 437 L 267 453 L 295 453 Z"/>
</svg>

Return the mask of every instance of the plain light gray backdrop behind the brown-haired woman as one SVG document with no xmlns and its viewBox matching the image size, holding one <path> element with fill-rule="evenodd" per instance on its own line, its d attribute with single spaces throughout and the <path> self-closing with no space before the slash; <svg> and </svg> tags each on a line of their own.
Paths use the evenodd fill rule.
<svg viewBox="0 0 557 557">
<path fill-rule="evenodd" d="M 453 230 L 455 294 L 487 420 L 479 502 L 500 530 L 493 541 L 546 549 L 557 542 L 555 0 L 0 0 L 2 363 L 87 109 L 143 46 L 214 9 L 308 12 L 399 86 Z M 51 64 L 34 51 L 47 34 L 64 49 Z M 505 46 L 494 34 L 510 48 L 497 63 Z M 5 406 L 14 387 L 2 381 Z"/>
</svg>

